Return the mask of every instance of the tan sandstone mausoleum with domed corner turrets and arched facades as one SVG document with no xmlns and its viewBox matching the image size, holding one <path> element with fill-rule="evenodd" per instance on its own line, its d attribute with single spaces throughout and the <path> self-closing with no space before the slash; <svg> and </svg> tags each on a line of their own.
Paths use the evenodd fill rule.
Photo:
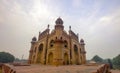
<svg viewBox="0 0 120 73">
<path fill-rule="evenodd" d="M 63 20 L 55 21 L 55 28 L 50 32 L 49 25 L 38 40 L 33 37 L 29 53 L 30 64 L 69 65 L 85 64 L 86 51 L 84 40 L 69 27 L 69 33 L 64 30 Z"/>
</svg>

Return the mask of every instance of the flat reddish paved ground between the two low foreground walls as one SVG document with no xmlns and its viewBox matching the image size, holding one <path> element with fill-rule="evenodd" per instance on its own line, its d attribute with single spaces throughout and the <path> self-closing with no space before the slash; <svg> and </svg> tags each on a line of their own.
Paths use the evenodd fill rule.
<svg viewBox="0 0 120 73">
<path fill-rule="evenodd" d="M 91 73 L 97 70 L 97 66 L 69 65 L 69 66 L 15 66 L 16 73 Z"/>
</svg>

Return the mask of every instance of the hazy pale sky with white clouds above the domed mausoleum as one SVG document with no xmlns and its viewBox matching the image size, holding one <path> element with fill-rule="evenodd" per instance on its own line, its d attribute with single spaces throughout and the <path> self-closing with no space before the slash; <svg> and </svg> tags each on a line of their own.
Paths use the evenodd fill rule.
<svg viewBox="0 0 120 73">
<path fill-rule="evenodd" d="M 58 17 L 85 40 L 87 59 L 120 54 L 120 0 L 0 0 L 0 51 L 27 59 L 32 37 Z"/>
</svg>

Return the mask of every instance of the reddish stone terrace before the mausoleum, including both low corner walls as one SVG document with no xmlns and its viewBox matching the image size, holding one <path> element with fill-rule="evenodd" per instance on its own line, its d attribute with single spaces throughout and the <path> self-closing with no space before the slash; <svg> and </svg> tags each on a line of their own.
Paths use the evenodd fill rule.
<svg viewBox="0 0 120 73">
<path fill-rule="evenodd" d="M 10 65 L 4 64 L 3 73 L 111 73 L 109 65 Z"/>
</svg>

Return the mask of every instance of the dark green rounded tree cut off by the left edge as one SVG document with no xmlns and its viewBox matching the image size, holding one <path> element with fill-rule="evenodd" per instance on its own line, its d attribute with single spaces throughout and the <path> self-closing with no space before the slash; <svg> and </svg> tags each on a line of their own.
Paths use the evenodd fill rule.
<svg viewBox="0 0 120 73">
<path fill-rule="evenodd" d="M 13 62 L 15 59 L 15 57 L 7 52 L 0 52 L 0 62 L 1 63 L 9 63 L 9 62 Z"/>
</svg>

